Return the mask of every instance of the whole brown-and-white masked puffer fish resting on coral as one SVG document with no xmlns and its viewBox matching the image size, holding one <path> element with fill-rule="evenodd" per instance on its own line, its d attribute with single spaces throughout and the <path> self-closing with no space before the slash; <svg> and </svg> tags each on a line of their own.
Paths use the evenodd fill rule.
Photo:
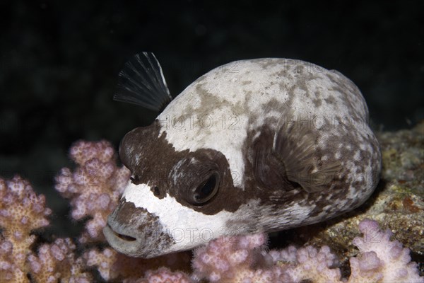
<svg viewBox="0 0 424 283">
<path fill-rule="evenodd" d="M 131 171 L 104 229 L 153 258 L 214 238 L 313 224 L 365 202 L 381 170 L 365 100 L 338 71 L 293 59 L 231 62 L 172 100 L 150 52 L 119 74 L 116 100 L 161 111 L 119 146 Z"/>
</svg>

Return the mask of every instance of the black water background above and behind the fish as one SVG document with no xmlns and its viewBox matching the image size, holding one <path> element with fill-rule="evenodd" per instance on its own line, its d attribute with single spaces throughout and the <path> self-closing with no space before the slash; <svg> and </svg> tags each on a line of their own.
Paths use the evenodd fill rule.
<svg viewBox="0 0 424 283">
<path fill-rule="evenodd" d="M 72 142 L 117 147 L 155 117 L 112 100 L 141 51 L 155 52 L 173 96 L 236 59 L 313 62 L 359 86 L 374 129 L 412 127 L 424 118 L 423 11 L 424 1 L 1 1 L 0 175 L 19 173 L 66 207 L 52 186 Z"/>
</svg>

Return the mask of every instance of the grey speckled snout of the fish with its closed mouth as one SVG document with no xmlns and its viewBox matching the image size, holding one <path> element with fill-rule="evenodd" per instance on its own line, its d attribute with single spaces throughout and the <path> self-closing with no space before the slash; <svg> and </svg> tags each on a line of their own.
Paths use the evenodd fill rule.
<svg viewBox="0 0 424 283">
<path fill-rule="evenodd" d="M 175 245 L 175 241 L 158 219 L 146 209 L 135 207 L 125 198 L 107 218 L 103 233 L 110 246 L 136 258 L 154 258 Z"/>
</svg>

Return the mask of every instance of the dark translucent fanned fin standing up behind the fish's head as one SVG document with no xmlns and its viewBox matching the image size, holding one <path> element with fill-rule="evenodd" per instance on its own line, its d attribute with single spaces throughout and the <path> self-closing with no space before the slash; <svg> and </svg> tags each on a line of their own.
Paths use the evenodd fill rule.
<svg viewBox="0 0 424 283">
<path fill-rule="evenodd" d="M 162 68 L 152 52 L 134 55 L 119 72 L 117 101 L 160 112 L 172 100 Z"/>
</svg>

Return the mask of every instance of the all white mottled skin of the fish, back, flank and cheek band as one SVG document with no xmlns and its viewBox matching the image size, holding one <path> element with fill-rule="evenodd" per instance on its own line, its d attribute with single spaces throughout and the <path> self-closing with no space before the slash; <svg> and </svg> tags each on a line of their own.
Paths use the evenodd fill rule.
<svg viewBox="0 0 424 283">
<path fill-rule="evenodd" d="M 322 221 L 358 206 L 377 184 L 379 151 L 369 142 L 375 137 L 367 119 L 367 106 L 360 91 L 337 71 L 291 59 L 232 62 L 201 76 L 167 105 L 158 116 L 158 137 L 166 133 L 165 138 L 175 151 L 220 151 L 228 160 L 235 190 L 242 192 L 247 133 L 257 130 L 259 135 L 261 127 L 267 125 L 277 134 L 287 122 L 308 123 L 317 129 L 317 149 L 328 153 L 320 156 L 321 161 L 341 164 L 346 182 L 351 184 L 347 195 L 331 200 L 330 184 L 326 188 L 329 194 L 316 200 L 283 203 L 276 210 L 275 206 L 259 205 L 259 200 L 252 198 L 246 199 L 236 212 L 223 210 L 214 215 L 185 207 L 170 195 L 159 199 L 146 184 L 129 184 L 124 198 L 158 216 L 161 231 L 173 238 L 175 243 L 160 254 L 187 250 L 223 233 L 274 231 Z M 337 139 L 339 142 L 335 143 Z M 360 160 L 360 151 L 370 157 Z M 319 169 L 314 167 L 314 171 Z M 276 199 L 279 193 L 276 188 Z M 316 207 L 314 202 L 323 197 L 329 205 L 322 212 L 311 214 Z M 173 231 L 180 229 L 184 236 L 176 238 Z M 211 231 L 212 236 L 202 238 L 200 231 Z"/>
</svg>

